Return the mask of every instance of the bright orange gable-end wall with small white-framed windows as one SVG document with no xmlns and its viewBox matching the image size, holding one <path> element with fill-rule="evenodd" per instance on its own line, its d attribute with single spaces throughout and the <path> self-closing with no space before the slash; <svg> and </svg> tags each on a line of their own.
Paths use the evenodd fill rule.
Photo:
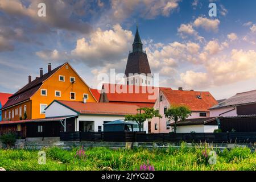
<svg viewBox="0 0 256 182">
<path fill-rule="evenodd" d="M 59 77 L 64 76 L 64 81 Z M 75 82 L 70 78 L 74 77 Z M 46 96 L 42 96 L 42 89 L 46 90 Z M 88 94 L 87 102 L 97 102 L 89 90 L 89 86 L 80 78 L 68 63 L 64 64 L 57 72 L 45 80 L 40 89 L 30 98 L 32 105 L 31 119 L 44 118 L 40 107 L 49 105 L 53 100 L 83 101 L 84 94 Z M 55 91 L 60 92 L 60 97 L 55 96 Z M 71 99 L 71 92 L 75 93 L 75 99 Z"/>
</svg>

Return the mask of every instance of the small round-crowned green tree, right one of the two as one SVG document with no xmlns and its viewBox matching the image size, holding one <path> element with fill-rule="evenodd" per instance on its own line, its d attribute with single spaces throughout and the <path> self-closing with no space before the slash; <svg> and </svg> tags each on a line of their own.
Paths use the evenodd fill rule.
<svg viewBox="0 0 256 182">
<path fill-rule="evenodd" d="M 191 110 L 187 106 L 171 106 L 164 115 L 170 122 L 174 121 L 174 133 L 176 133 L 177 121 L 184 121 L 188 118 Z"/>
</svg>

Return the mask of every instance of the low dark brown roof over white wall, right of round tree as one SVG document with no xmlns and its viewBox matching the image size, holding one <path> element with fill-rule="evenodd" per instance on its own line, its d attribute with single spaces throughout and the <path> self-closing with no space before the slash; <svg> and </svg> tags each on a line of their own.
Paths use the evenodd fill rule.
<svg viewBox="0 0 256 182">
<path fill-rule="evenodd" d="M 207 123 L 210 123 L 211 125 L 217 125 L 216 119 L 217 117 L 186 119 L 185 121 L 178 121 L 177 126 L 205 125 Z M 174 126 L 174 123 L 171 123 L 170 126 Z"/>
</svg>

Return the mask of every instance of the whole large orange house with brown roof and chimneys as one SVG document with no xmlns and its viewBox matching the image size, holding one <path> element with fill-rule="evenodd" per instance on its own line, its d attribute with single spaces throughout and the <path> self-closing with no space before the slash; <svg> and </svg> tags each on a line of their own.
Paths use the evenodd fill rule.
<svg viewBox="0 0 256 182">
<path fill-rule="evenodd" d="M 48 72 L 31 80 L 28 84 L 9 97 L 2 107 L 3 121 L 45 118 L 44 109 L 53 100 L 97 102 L 89 86 L 77 74 L 69 63 L 64 63 L 52 70 L 48 64 Z"/>
</svg>

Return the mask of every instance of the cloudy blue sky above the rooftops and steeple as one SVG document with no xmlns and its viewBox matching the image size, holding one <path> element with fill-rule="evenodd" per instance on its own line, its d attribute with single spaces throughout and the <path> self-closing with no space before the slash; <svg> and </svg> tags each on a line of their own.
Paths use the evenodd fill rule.
<svg viewBox="0 0 256 182">
<path fill-rule="evenodd" d="M 39 3 L 46 16 L 39 16 Z M 216 3 L 217 16 L 208 7 Z M 254 0 L 1 0 L 0 92 L 68 61 L 92 88 L 124 73 L 138 25 L 159 85 L 217 99 L 256 89 Z"/>
</svg>

